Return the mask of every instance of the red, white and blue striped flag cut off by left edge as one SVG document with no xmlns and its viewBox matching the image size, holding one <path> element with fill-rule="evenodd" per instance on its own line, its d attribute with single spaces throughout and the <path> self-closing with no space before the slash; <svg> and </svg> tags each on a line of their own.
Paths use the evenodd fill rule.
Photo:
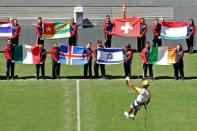
<svg viewBox="0 0 197 131">
<path fill-rule="evenodd" d="M 0 37 L 12 37 L 12 24 L 10 22 L 0 22 Z"/>
</svg>

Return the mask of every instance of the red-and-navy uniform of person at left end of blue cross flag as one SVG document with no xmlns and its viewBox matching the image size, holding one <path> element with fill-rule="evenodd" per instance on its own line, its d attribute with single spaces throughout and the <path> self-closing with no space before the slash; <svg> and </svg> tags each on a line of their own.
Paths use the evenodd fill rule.
<svg viewBox="0 0 197 131">
<path fill-rule="evenodd" d="M 59 79 L 60 76 L 60 63 L 59 63 L 59 55 L 60 48 L 53 47 L 50 50 L 51 60 L 52 60 L 52 79 Z"/>
</svg>

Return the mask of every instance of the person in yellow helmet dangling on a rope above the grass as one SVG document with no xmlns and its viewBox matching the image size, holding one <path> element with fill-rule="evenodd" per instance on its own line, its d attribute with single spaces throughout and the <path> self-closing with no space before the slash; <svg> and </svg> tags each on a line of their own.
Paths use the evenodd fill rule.
<svg viewBox="0 0 197 131">
<path fill-rule="evenodd" d="M 132 81 L 130 81 L 129 77 L 126 77 L 126 84 L 128 87 L 132 88 L 138 93 L 137 98 L 134 100 L 134 102 L 129 107 L 128 111 L 124 112 L 124 115 L 126 118 L 133 118 L 136 116 L 138 110 L 140 110 L 141 106 L 144 106 L 146 109 L 146 106 L 149 104 L 151 99 L 150 91 L 147 89 L 149 87 L 148 80 L 142 81 L 142 87 L 137 87 L 133 84 Z"/>
</svg>

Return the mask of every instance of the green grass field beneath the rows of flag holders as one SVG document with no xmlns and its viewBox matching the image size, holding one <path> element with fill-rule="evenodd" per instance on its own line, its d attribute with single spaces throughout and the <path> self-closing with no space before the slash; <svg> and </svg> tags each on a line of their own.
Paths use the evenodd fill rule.
<svg viewBox="0 0 197 131">
<path fill-rule="evenodd" d="M 3 61 L 4 56 L 0 58 Z M 51 80 L 48 59 L 47 79 L 39 81 L 33 65 L 16 65 L 18 79 L 0 80 L 0 131 L 78 131 L 79 119 L 81 131 L 195 131 L 196 65 L 197 54 L 186 54 L 185 81 L 173 80 L 172 66 L 154 66 L 146 128 L 143 108 L 135 120 L 123 115 L 137 95 L 125 86 L 123 65 L 106 66 L 109 80 L 83 80 L 82 67 L 62 65 L 61 80 Z M 141 60 L 135 53 L 132 74 L 137 85 L 141 73 Z M 1 62 L 0 75 L 4 74 Z"/>
</svg>

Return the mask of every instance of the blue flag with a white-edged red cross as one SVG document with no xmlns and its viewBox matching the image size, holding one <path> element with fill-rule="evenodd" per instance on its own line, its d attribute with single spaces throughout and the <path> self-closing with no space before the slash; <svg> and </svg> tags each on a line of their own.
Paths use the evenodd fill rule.
<svg viewBox="0 0 197 131">
<path fill-rule="evenodd" d="M 59 61 L 66 65 L 84 65 L 87 63 L 85 48 L 61 44 Z"/>
</svg>

